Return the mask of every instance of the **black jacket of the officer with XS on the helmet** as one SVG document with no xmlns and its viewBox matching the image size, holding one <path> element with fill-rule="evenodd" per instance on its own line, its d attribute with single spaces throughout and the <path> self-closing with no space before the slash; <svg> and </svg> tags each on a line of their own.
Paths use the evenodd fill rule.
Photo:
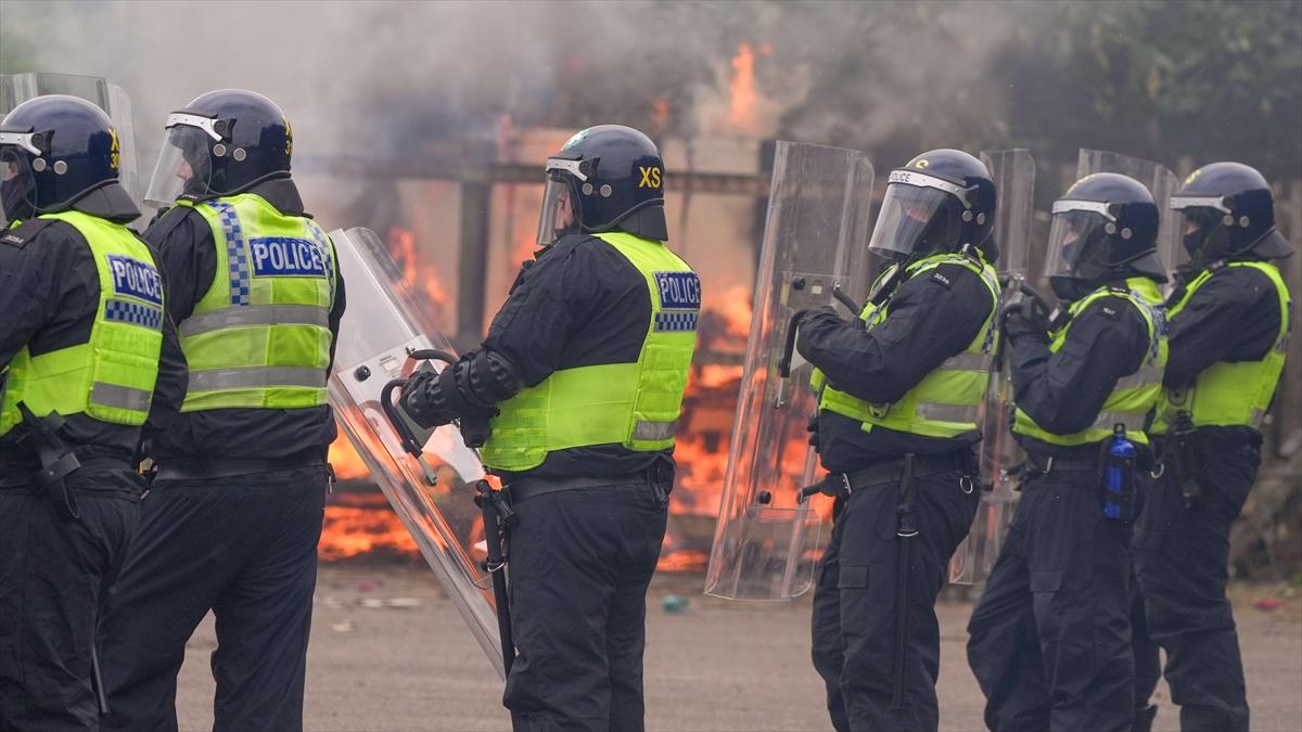
<svg viewBox="0 0 1302 732">
<path fill-rule="evenodd" d="M 638 359 L 651 322 L 646 277 L 609 244 L 566 234 L 526 263 L 483 348 L 516 367 L 525 386 L 553 371 Z M 555 451 L 533 477 L 637 473 L 673 449 L 634 452 L 621 444 Z"/>
</svg>

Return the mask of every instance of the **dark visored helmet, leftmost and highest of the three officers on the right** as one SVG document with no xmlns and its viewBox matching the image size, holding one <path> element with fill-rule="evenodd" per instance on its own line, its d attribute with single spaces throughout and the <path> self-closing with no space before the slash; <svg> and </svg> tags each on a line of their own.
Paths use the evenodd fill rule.
<svg viewBox="0 0 1302 732">
<path fill-rule="evenodd" d="M 931 150 L 891 172 L 868 249 L 892 259 L 980 249 L 997 257 L 995 181 L 960 150 Z"/>
</svg>

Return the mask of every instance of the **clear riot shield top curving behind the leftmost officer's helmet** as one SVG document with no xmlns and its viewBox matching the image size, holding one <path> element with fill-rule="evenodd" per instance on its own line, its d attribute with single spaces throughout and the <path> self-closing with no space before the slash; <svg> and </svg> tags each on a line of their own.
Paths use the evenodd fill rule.
<svg viewBox="0 0 1302 732">
<path fill-rule="evenodd" d="M 132 99 L 116 83 L 100 77 L 78 74 L 52 74 L 27 72 L 22 74 L 0 74 L 0 117 L 14 107 L 35 96 L 46 94 L 68 94 L 79 96 L 103 109 L 117 128 L 117 142 L 121 146 L 122 188 L 132 201 L 141 204 L 139 176 L 135 160 L 135 125 L 132 120 Z M 143 208 L 142 208 L 143 210 Z M 3 214 L 0 214 L 3 218 Z"/>
</svg>

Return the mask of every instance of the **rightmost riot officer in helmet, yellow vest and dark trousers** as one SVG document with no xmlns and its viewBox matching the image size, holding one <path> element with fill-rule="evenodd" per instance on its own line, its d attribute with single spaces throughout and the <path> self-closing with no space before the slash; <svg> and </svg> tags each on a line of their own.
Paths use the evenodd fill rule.
<svg viewBox="0 0 1302 732">
<path fill-rule="evenodd" d="M 1284 369 L 1290 296 L 1273 260 L 1293 249 L 1275 228 L 1269 185 L 1247 165 L 1199 168 L 1170 207 L 1184 215 L 1190 262 L 1169 300 L 1154 429 L 1163 469 L 1135 529 L 1135 573 L 1181 727 L 1246 731 L 1225 598 L 1229 529 L 1256 479 L 1262 418 Z"/>
</svg>

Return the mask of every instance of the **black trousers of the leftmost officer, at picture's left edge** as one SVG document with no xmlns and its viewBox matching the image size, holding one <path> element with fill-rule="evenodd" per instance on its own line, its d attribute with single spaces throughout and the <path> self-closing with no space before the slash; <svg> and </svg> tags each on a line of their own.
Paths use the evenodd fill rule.
<svg viewBox="0 0 1302 732">
<path fill-rule="evenodd" d="M 98 729 L 91 649 L 103 600 L 139 518 L 141 481 L 65 478 L 81 518 L 40 490 L 0 488 L 0 729 Z"/>
</svg>

